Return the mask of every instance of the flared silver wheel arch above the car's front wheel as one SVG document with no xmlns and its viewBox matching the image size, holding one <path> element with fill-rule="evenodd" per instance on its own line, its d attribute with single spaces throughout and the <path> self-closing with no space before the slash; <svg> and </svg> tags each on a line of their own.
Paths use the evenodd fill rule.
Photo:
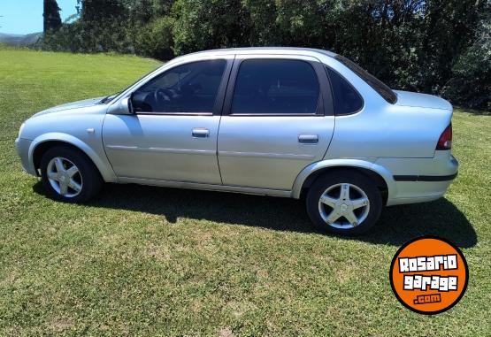
<svg viewBox="0 0 491 337">
<path fill-rule="evenodd" d="M 85 154 L 92 163 L 96 166 L 97 171 L 101 174 L 104 181 L 116 181 L 116 175 L 112 171 L 112 168 L 109 167 L 104 160 L 97 155 L 94 149 L 91 149 L 87 143 L 82 142 L 79 138 L 74 137 L 70 134 L 60 134 L 60 133 L 52 133 L 52 134 L 42 134 L 42 136 L 37 137 L 29 147 L 28 158 L 31 165 L 34 166 L 35 172 L 37 175 L 38 169 L 41 164 L 42 155 L 53 146 L 57 145 L 65 145 L 72 147 L 73 149 L 80 150 L 83 154 Z"/>
</svg>

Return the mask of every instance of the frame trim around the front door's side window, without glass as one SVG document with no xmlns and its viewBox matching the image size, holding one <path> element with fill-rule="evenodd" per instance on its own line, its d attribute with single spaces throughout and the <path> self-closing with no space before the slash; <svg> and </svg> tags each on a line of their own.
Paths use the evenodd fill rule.
<svg viewBox="0 0 491 337">
<path fill-rule="evenodd" d="M 179 65 L 174 65 L 172 68 L 166 69 L 165 72 L 158 73 L 156 76 L 142 83 L 142 85 L 135 88 L 131 93 L 133 96 L 134 92 L 139 88 L 142 88 L 145 84 L 149 83 L 150 80 L 157 79 L 157 77 L 163 76 L 165 73 L 172 71 L 174 68 L 181 65 L 190 65 L 197 62 L 206 62 L 212 60 L 224 60 L 226 62 L 222 78 L 220 80 L 219 89 L 217 91 L 217 96 L 215 97 L 215 102 L 213 103 L 213 111 L 211 112 L 165 112 L 165 111 L 136 111 L 135 115 L 153 115 L 153 116 L 219 116 L 223 109 L 223 103 L 226 95 L 226 87 L 232 71 L 232 65 L 234 64 L 234 58 L 229 57 L 217 57 L 213 59 L 203 59 L 203 60 L 193 60 Z"/>
</svg>

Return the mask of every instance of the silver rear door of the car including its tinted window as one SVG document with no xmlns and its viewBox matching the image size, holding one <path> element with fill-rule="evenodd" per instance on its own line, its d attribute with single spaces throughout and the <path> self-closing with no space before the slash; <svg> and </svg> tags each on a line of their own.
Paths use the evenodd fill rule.
<svg viewBox="0 0 491 337">
<path fill-rule="evenodd" d="M 290 190 L 324 157 L 333 132 L 332 95 L 316 58 L 235 57 L 219 127 L 224 185 Z"/>
</svg>

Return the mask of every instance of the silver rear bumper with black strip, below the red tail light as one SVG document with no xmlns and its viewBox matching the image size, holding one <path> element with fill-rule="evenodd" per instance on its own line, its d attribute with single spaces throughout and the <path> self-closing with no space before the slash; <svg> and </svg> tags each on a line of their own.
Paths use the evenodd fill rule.
<svg viewBox="0 0 491 337">
<path fill-rule="evenodd" d="M 458 162 L 450 151 L 437 151 L 433 158 L 380 158 L 377 164 L 394 176 L 395 193 L 388 195 L 387 206 L 439 199 L 458 172 Z"/>
</svg>

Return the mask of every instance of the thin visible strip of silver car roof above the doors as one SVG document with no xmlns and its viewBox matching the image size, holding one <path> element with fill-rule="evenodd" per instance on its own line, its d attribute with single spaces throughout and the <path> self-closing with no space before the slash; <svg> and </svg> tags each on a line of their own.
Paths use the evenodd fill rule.
<svg viewBox="0 0 491 337">
<path fill-rule="evenodd" d="M 318 56 L 319 54 L 327 57 L 335 57 L 336 54 L 328 50 L 318 50 L 314 48 L 300 48 L 300 47 L 246 47 L 246 48 L 224 48 L 219 50 L 203 50 L 196 51 L 191 54 L 183 55 L 183 57 L 190 55 L 203 55 L 203 56 L 216 56 L 225 54 L 281 54 L 281 55 L 305 55 L 305 56 Z"/>
</svg>

